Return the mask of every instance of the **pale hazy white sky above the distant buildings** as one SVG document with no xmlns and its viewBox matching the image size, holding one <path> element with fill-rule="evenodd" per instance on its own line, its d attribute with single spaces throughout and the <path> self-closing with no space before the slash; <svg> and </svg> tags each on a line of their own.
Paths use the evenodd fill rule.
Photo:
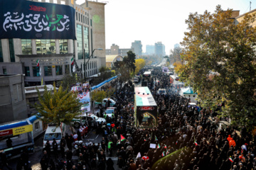
<svg viewBox="0 0 256 170">
<path fill-rule="evenodd" d="M 223 10 L 233 8 L 240 14 L 256 8 L 256 0 L 103 0 L 105 6 L 106 48 L 112 44 L 120 48 L 130 48 L 134 40 L 142 41 L 142 50 L 146 45 L 161 41 L 166 47 L 166 55 L 174 44 L 183 40 L 186 32 L 185 20 L 189 13 L 215 11 L 221 5 Z M 82 4 L 85 0 L 76 1 Z"/>
</svg>

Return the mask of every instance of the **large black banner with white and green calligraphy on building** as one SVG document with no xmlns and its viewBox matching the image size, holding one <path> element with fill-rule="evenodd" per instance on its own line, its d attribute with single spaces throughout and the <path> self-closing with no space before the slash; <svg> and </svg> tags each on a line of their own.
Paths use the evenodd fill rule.
<svg viewBox="0 0 256 170">
<path fill-rule="evenodd" d="M 0 1 L 0 39 L 73 39 L 75 9 L 25 0 Z"/>
</svg>

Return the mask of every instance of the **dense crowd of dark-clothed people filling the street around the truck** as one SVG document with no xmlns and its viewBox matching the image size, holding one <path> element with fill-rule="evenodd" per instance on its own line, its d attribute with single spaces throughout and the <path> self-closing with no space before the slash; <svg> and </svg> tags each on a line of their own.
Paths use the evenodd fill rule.
<svg viewBox="0 0 256 170">
<path fill-rule="evenodd" d="M 255 135 L 245 127 L 239 132 L 235 128 L 219 128 L 218 119 L 213 118 L 215 111 L 190 106 L 190 99 L 178 95 L 177 89 L 170 84 L 169 75 L 161 69 L 154 69 L 152 79 L 156 83 L 149 89 L 158 106 L 155 127 L 136 128 L 134 85 L 129 81 L 112 96 L 117 101 L 117 111 L 112 117 L 105 117 L 102 109 L 97 113 L 106 118 L 106 123 L 85 123 L 87 131 L 96 129 L 102 134 L 101 142 L 82 145 L 74 142 L 74 136 L 66 136 L 60 144 L 61 159 L 55 155 L 60 160 L 58 164 L 50 151 L 44 149 L 42 169 L 112 170 L 114 162 L 110 157 L 117 157 L 118 169 L 124 170 L 256 169 Z M 168 94 L 157 94 L 158 89 L 167 89 Z M 78 130 L 75 138 L 79 137 L 79 141 L 85 135 Z M 151 144 L 156 144 L 156 148 L 151 148 Z M 66 146 L 68 150 L 65 151 Z M 73 160 L 74 149 L 78 162 Z"/>
</svg>

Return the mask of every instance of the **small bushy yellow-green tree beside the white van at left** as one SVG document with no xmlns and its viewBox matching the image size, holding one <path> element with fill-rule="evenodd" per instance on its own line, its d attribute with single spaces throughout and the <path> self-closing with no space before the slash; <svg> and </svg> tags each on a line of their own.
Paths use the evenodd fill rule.
<svg viewBox="0 0 256 170">
<path fill-rule="evenodd" d="M 68 92 L 68 89 L 64 91 L 61 85 L 57 90 L 55 84 L 53 91 L 48 91 L 46 86 L 44 90 L 41 96 L 36 88 L 39 103 L 34 105 L 44 123 L 55 123 L 57 126 L 60 123 L 70 125 L 71 120 L 81 114 L 82 103 L 79 102 L 77 94 Z"/>
</svg>

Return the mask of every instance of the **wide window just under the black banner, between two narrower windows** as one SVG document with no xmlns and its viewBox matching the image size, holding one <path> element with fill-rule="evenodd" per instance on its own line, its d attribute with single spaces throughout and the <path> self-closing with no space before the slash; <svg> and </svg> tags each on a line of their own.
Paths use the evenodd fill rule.
<svg viewBox="0 0 256 170">
<path fill-rule="evenodd" d="M 41 55 L 55 54 L 55 40 L 36 40 L 36 53 Z"/>
</svg>

